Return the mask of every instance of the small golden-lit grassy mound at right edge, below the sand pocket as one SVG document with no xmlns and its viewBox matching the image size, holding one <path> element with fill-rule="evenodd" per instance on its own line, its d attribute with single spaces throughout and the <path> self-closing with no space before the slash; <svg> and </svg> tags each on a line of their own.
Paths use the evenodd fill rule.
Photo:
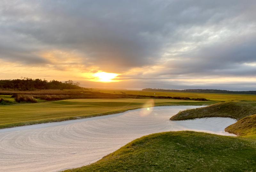
<svg viewBox="0 0 256 172">
<path fill-rule="evenodd" d="M 228 126 L 225 131 L 238 136 L 256 136 L 256 114 L 240 119 L 235 124 Z"/>
</svg>

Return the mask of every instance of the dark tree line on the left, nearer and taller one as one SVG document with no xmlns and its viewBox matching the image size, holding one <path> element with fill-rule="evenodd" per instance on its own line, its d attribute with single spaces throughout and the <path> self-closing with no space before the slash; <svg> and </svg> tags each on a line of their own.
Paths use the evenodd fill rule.
<svg viewBox="0 0 256 172">
<path fill-rule="evenodd" d="M 68 80 L 60 82 L 56 80 L 21 78 L 13 80 L 0 80 L 1 89 L 14 90 L 47 90 L 47 89 L 81 89 L 79 82 Z"/>
</svg>

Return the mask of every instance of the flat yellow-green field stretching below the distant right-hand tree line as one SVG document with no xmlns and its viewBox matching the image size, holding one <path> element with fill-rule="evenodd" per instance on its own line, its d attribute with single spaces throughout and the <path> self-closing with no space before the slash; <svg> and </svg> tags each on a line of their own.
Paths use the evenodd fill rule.
<svg viewBox="0 0 256 172">
<path fill-rule="evenodd" d="M 93 89 L 92 91 L 100 91 L 103 93 L 112 94 L 132 94 L 132 95 L 147 95 L 155 96 L 153 91 L 140 90 L 103 90 Z M 256 95 L 245 94 L 217 94 L 217 93 L 188 93 L 188 92 L 156 92 L 156 96 L 171 96 L 171 97 L 189 97 L 189 98 L 206 98 L 212 101 L 231 101 L 231 100 L 247 100 L 256 101 Z"/>
</svg>

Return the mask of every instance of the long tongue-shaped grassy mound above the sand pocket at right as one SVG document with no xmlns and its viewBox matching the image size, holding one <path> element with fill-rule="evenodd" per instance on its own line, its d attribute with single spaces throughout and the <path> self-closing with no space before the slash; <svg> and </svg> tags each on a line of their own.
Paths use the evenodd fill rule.
<svg viewBox="0 0 256 172">
<path fill-rule="evenodd" d="M 256 102 L 221 102 L 207 107 L 180 111 L 171 120 L 186 120 L 204 117 L 229 117 L 237 120 L 256 114 Z"/>
</svg>

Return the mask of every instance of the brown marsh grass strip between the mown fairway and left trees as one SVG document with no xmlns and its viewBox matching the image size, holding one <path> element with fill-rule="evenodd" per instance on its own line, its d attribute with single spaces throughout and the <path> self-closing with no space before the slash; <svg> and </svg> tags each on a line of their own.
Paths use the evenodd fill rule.
<svg viewBox="0 0 256 172">
<path fill-rule="evenodd" d="M 189 97 L 170 97 L 170 96 L 150 96 L 150 95 L 133 95 L 125 92 L 103 93 L 90 90 L 0 90 L 0 95 L 12 95 L 17 103 L 38 103 L 47 101 L 58 101 L 65 99 L 88 99 L 88 98 L 161 98 L 161 99 L 177 99 L 177 100 L 196 100 L 207 101 L 205 98 L 189 98 Z M 4 105 L 4 104 L 1 104 Z"/>
</svg>

